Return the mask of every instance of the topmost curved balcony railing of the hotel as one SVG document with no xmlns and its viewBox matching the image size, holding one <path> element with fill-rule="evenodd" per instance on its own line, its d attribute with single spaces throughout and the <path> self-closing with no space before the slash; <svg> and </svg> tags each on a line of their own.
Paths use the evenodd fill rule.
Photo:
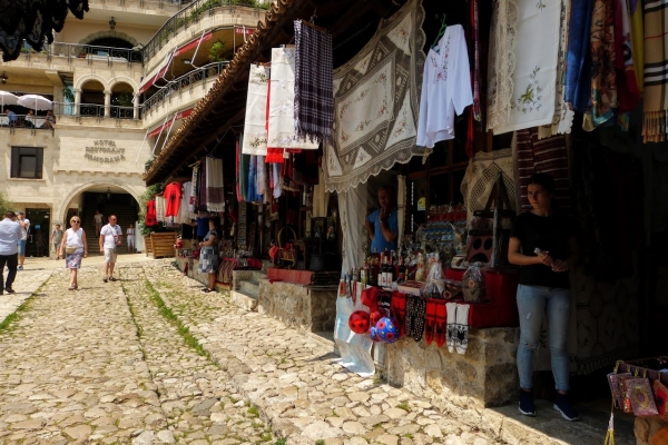
<svg viewBox="0 0 668 445">
<path fill-rule="evenodd" d="M 183 28 L 187 29 L 193 23 L 208 13 L 214 14 L 214 9 L 232 6 L 245 6 L 250 8 L 268 9 L 271 1 L 263 2 L 262 0 L 196 0 L 190 4 L 171 16 L 169 20 L 156 32 L 156 34 L 144 47 L 144 61 L 148 61 L 154 57 L 169 39 Z"/>
</svg>

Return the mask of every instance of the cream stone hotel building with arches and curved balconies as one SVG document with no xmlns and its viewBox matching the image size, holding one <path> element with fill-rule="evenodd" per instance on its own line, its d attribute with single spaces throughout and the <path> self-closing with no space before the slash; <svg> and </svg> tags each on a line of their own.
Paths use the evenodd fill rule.
<svg viewBox="0 0 668 445">
<path fill-rule="evenodd" d="M 48 106 L 0 119 L 2 191 L 32 221 L 28 256 L 48 256 L 56 224 L 79 215 L 94 240 L 92 215 L 134 222 L 145 166 L 180 126 L 264 14 L 255 1 L 91 0 L 68 17 L 55 42 L 0 62 L 0 90 L 39 95 Z M 262 2 L 257 2 L 261 7 Z M 35 118 L 27 116 L 31 108 Z"/>
</svg>

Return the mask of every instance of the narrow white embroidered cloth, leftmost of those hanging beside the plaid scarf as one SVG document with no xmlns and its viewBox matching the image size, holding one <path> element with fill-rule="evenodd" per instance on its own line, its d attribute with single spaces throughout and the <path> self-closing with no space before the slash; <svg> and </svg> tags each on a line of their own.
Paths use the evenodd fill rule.
<svg viewBox="0 0 668 445">
<path fill-rule="evenodd" d="M 252 65 L 248 76 L 248 93 L 246 97 L 246 122 L 242 152 L 244 155 L 267 155 L 267 93 L 269 68 Z"/>
</svg>

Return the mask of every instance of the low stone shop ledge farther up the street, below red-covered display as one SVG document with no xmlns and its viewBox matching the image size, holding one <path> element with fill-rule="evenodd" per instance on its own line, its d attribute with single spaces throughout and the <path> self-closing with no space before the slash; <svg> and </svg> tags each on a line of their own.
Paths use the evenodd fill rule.
<svg viewBox="0 0 668 445">
<path fill-rule="evenodd" d="M 336 289 L 315 290 L 291 283 L 259 279 L 258 308 L 299 332 L 334 330 Z"/>
</svg>

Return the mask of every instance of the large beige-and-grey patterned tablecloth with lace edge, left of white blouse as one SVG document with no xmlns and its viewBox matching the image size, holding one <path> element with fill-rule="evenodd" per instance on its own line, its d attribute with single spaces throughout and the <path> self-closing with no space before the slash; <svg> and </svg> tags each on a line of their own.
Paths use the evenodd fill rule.
<svg viewBox="0 0 668 445">
<path fill-rule="evenodd" d="M 326 187 L 344 191 L 414 154 L 422 67 L 424 9 L 405 3 L 381 20 L 369 43 L 334 71 L 336 131 L 326 146 Z"/>
</svg>

